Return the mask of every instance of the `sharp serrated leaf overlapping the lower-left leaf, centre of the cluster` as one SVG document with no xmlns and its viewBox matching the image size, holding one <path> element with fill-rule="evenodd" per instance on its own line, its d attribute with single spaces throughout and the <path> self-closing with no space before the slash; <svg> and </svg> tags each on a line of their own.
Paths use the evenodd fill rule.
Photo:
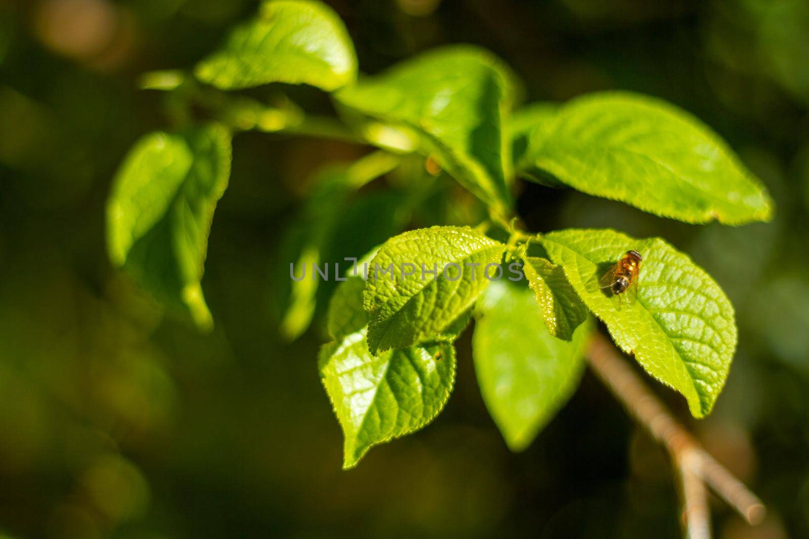
<svg viewBox="0 0 809 539">
<path fill-rule="evenodd" d="M 385 242 L 368 267 L 363 295 L 371 353 L 438 338 L 472 307 L 489 284 L 485 267 L 500 263 L 505 248 L 456 226 L 411 230 Z M 436 277 L 427 273 L 434 269 Z"/>
</svg>

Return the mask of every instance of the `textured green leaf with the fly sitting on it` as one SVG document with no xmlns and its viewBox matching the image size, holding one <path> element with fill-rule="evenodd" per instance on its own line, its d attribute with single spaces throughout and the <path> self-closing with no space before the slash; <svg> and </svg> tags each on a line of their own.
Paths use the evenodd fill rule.
<svg viewBox="0 0 809 539">
<path fill-rule="evenodd" d="M 714 406 L 736 347 L 736 323 L 722 288 L 687 255 L 660 238 L 610 229 L 568 229 L 541 239 L 578 296 L 607 324 L 612 339 L 653 377 L 688 400 L 694 417 Z M 623 307 L 599 279 L 629 250 L 643 261 L 635 305 Z"/>
</svg>

